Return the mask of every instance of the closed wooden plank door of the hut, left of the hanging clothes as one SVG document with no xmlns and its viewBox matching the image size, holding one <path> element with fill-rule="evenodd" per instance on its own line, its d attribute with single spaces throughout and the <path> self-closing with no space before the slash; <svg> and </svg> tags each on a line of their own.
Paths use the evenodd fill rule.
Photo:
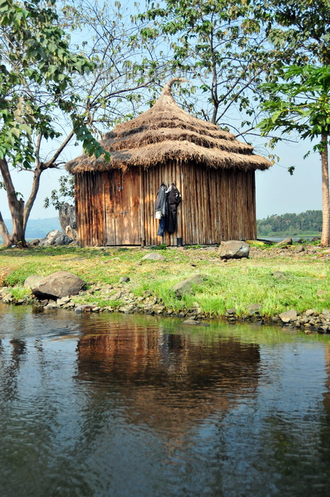
<svg viewBox="0 0 330 497">
<path fill-rule="evenodd" d="M 112 170 L 106 177 L 106 245 L 141 244 L 138 169 L 132 168 L 127 173 Z"/>
</svg>

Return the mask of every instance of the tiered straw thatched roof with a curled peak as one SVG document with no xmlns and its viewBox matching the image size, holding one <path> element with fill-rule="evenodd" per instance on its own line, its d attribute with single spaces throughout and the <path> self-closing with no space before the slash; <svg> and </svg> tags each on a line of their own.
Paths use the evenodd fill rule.
<svg viewBox="0 0 330 497">
<path fill-rule="evenodd" d="M 238 141 L 232 133 L 190 116 L 171 94 L 175 78 L 165 84 L 155 105 L 131 121 L 118 124 L 101 140 L 111 153 L 110 163 L 101 156 L 80 155 L 67 163 L 72 174 L 90 170 L 150 168 L 178 160 L 208 168 L 267 169 L 271 163 L 253 153 L 253 147 Z"/>
</svg>

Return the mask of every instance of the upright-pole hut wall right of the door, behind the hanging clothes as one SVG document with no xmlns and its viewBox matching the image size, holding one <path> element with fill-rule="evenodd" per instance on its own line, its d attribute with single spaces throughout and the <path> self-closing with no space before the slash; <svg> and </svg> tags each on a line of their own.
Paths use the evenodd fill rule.
<svg viewBox="0 0 330 497">
<path fill-rule="evenodd" d="M 157 236 L 155 195 L 162 182 L 174 182 L 182 196 L 178 208 L 177 233 Z M 144 223 L 146 245 L 165 243 L 219 244 L 222 240 L 255 239 L 255 172 L 206 169 L 175 161 L 162 168 L 143 171 Z"/>
</svg>

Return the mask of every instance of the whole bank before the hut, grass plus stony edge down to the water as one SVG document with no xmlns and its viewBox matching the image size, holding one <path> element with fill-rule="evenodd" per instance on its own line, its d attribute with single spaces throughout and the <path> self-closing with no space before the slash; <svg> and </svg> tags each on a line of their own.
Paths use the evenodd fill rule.
<svg viewBox="0 0 330 497">
<path fill-rule="evenodd" d="M 159 253 L 162 256 L 164 254 L 165 261 L 141 261 L 143 254 L 148 252 Z M 79 257 L 75 257 L 76 255 Z M 22 283 L 25 277 L 22 277 L 16 285 L 10 286 L 8 282 L 14 279 L 13 275 L 16 272 L 21 271 L 22 266 L 26 268 L 26 276 L 33 274 L 34 266 L 31 266 L 31 273 L 28 273 L 27 267 L 33 256 L 40 257 L 40 260 L 45 258 L 45 261 L 38 265 L 39 271 L 43 273 L 49 272 L 50 261 L 51 263 L 54 261 L 54 268 L 58 265 L 60 267 L 66 265 L 66 271 L 79 272 L 82 278 L 84 278 L 84 273 L 93 274 L 94 278 L 92 280 L 84 278 L 87 280 L 88 287 L 77 296 L 64 297 L 58 299 L 57 302 L 37 300 L 33 298 L 31 291 L 28 293 L 27 289 L 24 290 L 26 295 L 20 296 L 19 294 L 23 292 Z M 6 271 L 8 275 L 3 278 L 6 286 L 0 290 L 1 302 L 7 304 L 33 305 L 44 311 L 67 308 L 75 312 L 121 312 L 172 316 L 188 320 L 192 325 L 198 323 L 205 325 L 208 320 L 214 319 L 232 324 L 257 322 L 289 327 L 305 334 L 330 333 L 329 248 L 322 249 L 319 246 L 302 244 L 277 247 L 251 246 L 249 258 L 227 261 L 219 259 L 217 248 L 214 246 L 165 250 L 142 249 L 141 247 L 116 249 L 110 247 L 89 249 L 45 247 L 42 250 L 21 251 L 21 249 L 2 248 L 0 261 L 1 259 L 6 262 L 10 261 L 9 266 L 11 266 Z M 87 263 L 91 263 L 93 271 L 89 269 L 89 266 L 86 267 Z M 172 271 L 171 263 L 173 264 Z M 301 269 L 297 267 L 298 265 L 302 266 Z M 76 271 L 77 268 L 79 271 Z M 309 275 L 312 268 L 314 274 Z M 176 270 L 177 275 L 175 275 Z M 175 300 L 171 294 L 170 278 L 175 281 L 175 278 L 177 280 L 180 275 L 183 279 L 185 275 L 197 272 L 206 275 L 207 282 L 204 286 L 202 285 L 202 289 L 196 288 L 193 295 L 185 296 L 182 300 Z M 105 273 L 109 273 L 108 278 Z M 245 273 L 250 278 L 242 280 L 242 283 L 235 281 L 242 278 Z M 128 276 L 128 283 L 119 283 L 119 277 L 124 275 Z M 302 280 L 302 275 L 306 280 L 304 283 L 307 283 L 307 290 L 304 290 L 299 302 L 297 298 L 295 299 L 294 293 L 299 290 L 299 280 Z M 265 277 L 269 282 L 264 281 Z M 297 279 L 297 284 L 294 278 Z M 231 280 L 233 280 L 232 283 Z M 251 289 L 246 295 L 242 293 L 245 290 L 245 288 L 242 290 L 242 286 L 248 284 L 251 285 Z M 270 305 L 267 300 L 270 300 L 269 294 L 272 293 L 273 288 L 278 290 L 274 296 L 272 295 L 273 300 L 277 298 L 280 301 L 283 300 L 283 296 L 287 296 L 287 305 L 273 302 L 272 309 L 279 307 L 278 312 L 268 310 Z M 221 290 L 224 292 L 221 293 Z M 242 293 L 241 300 L 240 292 Z M 309 297 L 309 300 L 306 297 Z M 290 305 L 290 298 L 294 303 L 299 302 L 300 308 L 295 309 L 295 305 Z M 214 301 L 213 307 L 212 302 L 209 303 L 208 300 Z M 314 300 L 317 305 L 311 305 Z M 237 305 L 232 305 L 233 302 Z M 290 315 L 292 310 L 295 312 L 291 312 Z"/>
</svg>

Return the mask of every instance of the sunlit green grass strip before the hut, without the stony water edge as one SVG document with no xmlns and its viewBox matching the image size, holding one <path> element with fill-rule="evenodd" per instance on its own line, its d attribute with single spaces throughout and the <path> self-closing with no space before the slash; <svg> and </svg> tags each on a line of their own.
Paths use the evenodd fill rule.
<svg viewBox="0 0 330 497">
<path fill-rule="evenodd" d="M 145 253 L 147 249 L 139 248 L 2 247 L 0 287 L 13 287 L 13 295 L 23 297 L 28 293 L 23 288 L 28 275 L 65 270 L 83 278 L 87 289 L 92 289 L 75 297 L 75 302 L 100 307 L 123 305 L 118 297 L 123 288 L 132 298 L 147 294 L 175 311 L 199 307 L 213 316 L 224 315 L 232 307 L 236 315 L 245 315 L 252 304 L 260 305 L 260 314 L 266 317 L 292 308 L 298 312 L 330 309 L 330 258 L 319 247 L 302 252 L 295 247 L 251 248 L 250 258 L 228 262 L 221 261 L 214 248 L 158 251 L 165 261 L 141 261 Z M 197 273 L 204 275 L 204 283 L 194 288 L 194 294 L 175 297 L 172 286 Z M 130 281 L 119 285 L 121 276 Z"/>
</svg>

